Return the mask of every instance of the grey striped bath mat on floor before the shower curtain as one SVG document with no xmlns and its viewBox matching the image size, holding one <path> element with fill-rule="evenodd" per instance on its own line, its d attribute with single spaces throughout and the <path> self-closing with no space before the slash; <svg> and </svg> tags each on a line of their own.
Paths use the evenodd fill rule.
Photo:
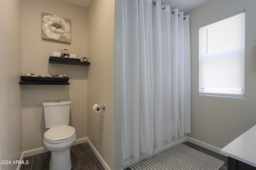
<svg viewBox="0 0 256 170">
<path fill-rule="evenodd" d="M 179 144 L 132 166 L 132 170 L 219 170 L 224 161 Z"/>
</svg>

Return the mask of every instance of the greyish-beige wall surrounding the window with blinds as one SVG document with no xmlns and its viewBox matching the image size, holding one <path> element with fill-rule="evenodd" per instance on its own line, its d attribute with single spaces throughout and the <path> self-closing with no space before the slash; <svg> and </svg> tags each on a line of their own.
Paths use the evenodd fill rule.
<svg viewBox="0 0 256 170">
<path fill-rule="evenodd" d="M 192 138 L 224 147 L 256 124 L 255 0 L 210 0 L 190 15 Z M 245 99 L 198 96 L 198 28 L 246 10 Z"/>
</svg>

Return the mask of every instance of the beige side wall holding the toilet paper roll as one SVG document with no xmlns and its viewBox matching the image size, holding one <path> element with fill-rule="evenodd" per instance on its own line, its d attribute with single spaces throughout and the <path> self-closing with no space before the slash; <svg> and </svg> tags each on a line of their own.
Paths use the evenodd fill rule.
<svg viewBox="0 0 256 170">
<path fill-rule="evenodd" d="M 88 55 L 87 136 L 114 170 L 114 0 L 92 0 L 88 7 Z M 94 103 L 106 105 L 104 113 L 94 113 Z"/>
</svg>

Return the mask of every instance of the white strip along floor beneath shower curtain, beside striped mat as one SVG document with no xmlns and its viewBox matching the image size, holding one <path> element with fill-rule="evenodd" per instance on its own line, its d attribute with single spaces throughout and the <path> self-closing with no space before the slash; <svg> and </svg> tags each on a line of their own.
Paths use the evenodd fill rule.
<svg viewBox="0 0 256 170">
<path fill-rule="evenodd" d="M 173 146 L 176 146 L 178 144 L 184 143 L 186 141 L 187 141 L 187 138 L 185 136 L 185 137 L 180 138 L 180 139 L 178 139 L 178 140 L 176 140 L 176 141 L 174 141 L 174 142 L 172 142 L 172 143 L 170 143 L 170 144 L 168 144 L 166 146 L 163 146 L 162 148 L 154 150 L 154 152 L 151 155 L 144 154 L 144 155 L 140 156 L 139 158 L 133 158 L 132 160 L 125 161 L 125 162 L 122 163 L 122 168 L 125 169 L 125 168 L 127 168 L 127 167 L 129 167 L 129 166 L 131 166 L 133 164 L 136 164 L 137 162 L 139 162 L 139 161 L 141 161 L 143 159 L 149 158 L 150 156 L 158 154 L 158 153 L 160 153 L 160 152 L 162 152 L 164 150 L 167 150 L 167 149 L 169 149 L 169 148 L 171 148 Z"/>
</svg>

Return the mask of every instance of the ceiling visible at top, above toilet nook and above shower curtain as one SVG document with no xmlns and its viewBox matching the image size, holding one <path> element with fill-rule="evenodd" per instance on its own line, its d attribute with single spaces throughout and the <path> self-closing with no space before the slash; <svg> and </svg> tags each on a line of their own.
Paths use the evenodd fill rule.
<svg viewBox="0 0 256 170">
<path fill-rule="evenodd" d="M 87 8 L 91 0 L 63 0 L 71 4 Z M 154 0 L 152 0 L 154 1 Z M 161 0 L 162 5 L 170 5 L 171 9 L 179 8 L 179 11 L 188 12 L 197 6 L 200 6 L 209 0 Z"/>
</svg>

